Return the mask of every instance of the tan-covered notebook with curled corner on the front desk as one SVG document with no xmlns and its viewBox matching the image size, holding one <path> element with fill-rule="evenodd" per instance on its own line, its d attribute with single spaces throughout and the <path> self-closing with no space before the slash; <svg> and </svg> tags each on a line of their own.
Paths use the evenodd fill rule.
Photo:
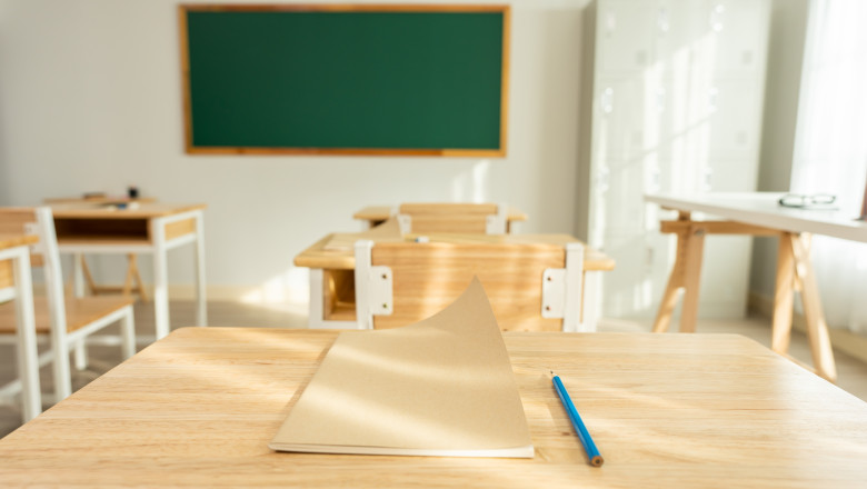
<svg viewBox="0 0 867 489">
<path fill-rule="evenodd" d="M 532 457 L 506 345 L 478 280 L 403 328 L 340 333 L 275 450 Z"/>
</svg>

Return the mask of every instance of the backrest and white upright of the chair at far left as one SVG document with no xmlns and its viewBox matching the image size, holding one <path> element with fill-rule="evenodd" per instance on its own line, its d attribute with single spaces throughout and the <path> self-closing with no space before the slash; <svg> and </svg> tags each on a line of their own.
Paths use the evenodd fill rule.
<svg viewBox="0 0 867 489">
<path fill-rule="evenodd" d="M 30 248 L 30 263 L 33 268 L 43 268 L 51 325 L 58 325 L 59 330 L 66 331 L 63 276 L 51 208 L 0 208 L 0 232 L 39 236 L 39 242 Z"/>
</svg>

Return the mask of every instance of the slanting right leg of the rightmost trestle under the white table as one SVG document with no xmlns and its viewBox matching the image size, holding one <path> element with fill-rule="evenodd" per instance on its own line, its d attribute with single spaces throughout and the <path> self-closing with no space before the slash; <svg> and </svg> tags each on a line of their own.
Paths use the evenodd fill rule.
<svg viewBox="0 0 867 489">
<path fill-rule="evenodd" d="M 828 336 L 828 325 L 821 310 L 819 288 L 809 257 L 809 234 L 791 236 L 791 248 L 795 255 L 795 270 L 801 285 L 801 301 L 804 316 L 807 319 L 807 337 L 810 341 L 813 366 L 816 373 L 831 382 L 837 379 L 837 367 L 834 362 L 834 350 Z"/>
</svg>

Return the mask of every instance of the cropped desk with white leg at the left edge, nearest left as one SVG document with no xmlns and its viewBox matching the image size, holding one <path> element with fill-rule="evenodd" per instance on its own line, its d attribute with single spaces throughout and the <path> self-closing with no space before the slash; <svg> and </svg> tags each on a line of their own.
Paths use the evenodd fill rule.
<svg viewBox="0 0 867 489">
<path fill-rule="evenodd" d="M 29 248 L 38 241 L 36 236 L 0 230 L 0 303 L 14 300 L 16 305 L 16 367 L 21 380 L 24 421 L 42 412 Z"/>
</svg>

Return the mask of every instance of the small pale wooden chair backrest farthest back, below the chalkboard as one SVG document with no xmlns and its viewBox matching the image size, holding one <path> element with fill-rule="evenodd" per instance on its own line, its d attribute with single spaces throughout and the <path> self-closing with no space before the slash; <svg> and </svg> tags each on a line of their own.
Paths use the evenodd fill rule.
<svg viewBox="0 0 867 489">
<path fill-rule="evenodd" d="M 405 233 L 458 232 L 502 234 L 508 206 L 497 203 L 402 203 L 398 222 Z"/>
</svg>

